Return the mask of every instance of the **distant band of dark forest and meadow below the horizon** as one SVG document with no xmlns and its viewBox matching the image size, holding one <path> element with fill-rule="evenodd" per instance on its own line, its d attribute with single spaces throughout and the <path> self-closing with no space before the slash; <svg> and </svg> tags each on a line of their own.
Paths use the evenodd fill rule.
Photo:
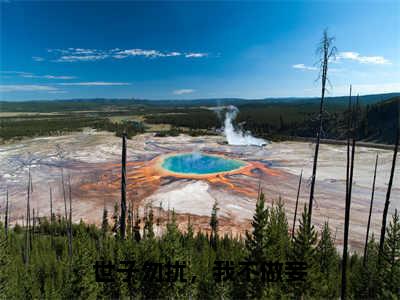
<svg viewBox="0 0 400 300">
<path fill-rule="evenodd" d="M 353 97 L 355 102 L 356 97 Z M 383 99 L 383 100 L 382 100 Z M 382 101 L 381 101 L 382 100 Z M 29 136 L 59 135 L 85 127 L 115 132 L 128 137 L 146 131 L 146 124 L 170 124 L 171 130 L 158 136 L 215 134 L 223 125 L 223 115 L 210 107 L 236 105 L 240 112 L 236 126 L 254 135 L 284 140 L 316 135 L 318 98 L 278 100 L 208 99 L 192 101 L 146 101 L 126 99 L 95 99 L 68 101 L 0 102 L 0 138 L 9 140 Z M 322 138 L 346 138 L 348 97 L 327 98 L 323 115 Z M 395 94 L 361 96 L 357 108 L 357 139 L 367 142 L 394 144 L 399 126 L 400 96 Z M 127 117 L 115 122 L 113 117 Z M 129 116 L 142 121 L 129 121 Z"/>
</svg>

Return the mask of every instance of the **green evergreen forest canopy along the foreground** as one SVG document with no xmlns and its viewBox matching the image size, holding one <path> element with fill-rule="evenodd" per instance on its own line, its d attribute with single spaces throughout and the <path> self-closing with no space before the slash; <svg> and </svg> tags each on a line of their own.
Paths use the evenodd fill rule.
<svg viewBox="0 0 400 300">
<path fill-rule="evenodd" d="M 31 220 L 30 226 L 8 228 L 0 223 L 0 298 L 5 299 L 337 299 L 340 292 L 340 255 L 335 235 L 325 223 L 321 232 L 308 224 L 304 206 L 297 230 L 289 234 L 284 204 L 278 199 L 266 207 L 261 193 L 245 237 L 218 234 L 218 207 L 214 205 L 208 232 L 193 231 L 188 219 L 178 229 L 174 212 L 166 223 L 154 217 L 149 207 L 139 218 L 130 208 L 126 238 L 119 234 L 119 205 L 111 218 L 103 212 L 101 228 L 84 222 L 72 224 L 60 215 Z M 100 216 L 99 216 L 100 218 Z M 30 223 L 30 222 L 29 222 Z M 29 224 L 27 223 L 27 224 Z M 140 225 L 141 224 L 141 225 Z M 156 236 L 155 228 L 163 235 Z M 356 253 L 347 264 L 347 297 L 350 299 L 397 299 L 400 287 L 400 216 L 396 211 L 386 229 L 384 251 L 379 259 L 374 236 L 364 259 Z M 142 273 L 128 284 L 124 274 L 115 273 L 114 282 L 96 281 L 96 261 L 118 264 L 133 261 L 186 262 L 186 278 L 194 282 L 150 282 Z M 216 261 L 307 263 L 304 281 L 266 282 L 250 280 L 217 281 Z M 236 271 L 236 269 L 235 269 Z M 253 271 L 257 271 L 254 269 Z M 142 274 L 142 275 L 141 275 Z M 237 274 L 237 273 L 235 273 Z M 236 276 L 236 275 L 235 275 Z"/>
</svg>

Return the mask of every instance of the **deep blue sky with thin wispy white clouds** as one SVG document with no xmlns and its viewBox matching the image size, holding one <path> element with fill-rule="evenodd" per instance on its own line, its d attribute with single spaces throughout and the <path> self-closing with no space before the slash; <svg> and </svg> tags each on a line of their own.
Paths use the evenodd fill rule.
<svg viewBox="0 0 400 300">
<path fill-rule="evenodd" d="M 400 92 L 400 1 L 0 0 L 0 100 Z"/>
</svg>

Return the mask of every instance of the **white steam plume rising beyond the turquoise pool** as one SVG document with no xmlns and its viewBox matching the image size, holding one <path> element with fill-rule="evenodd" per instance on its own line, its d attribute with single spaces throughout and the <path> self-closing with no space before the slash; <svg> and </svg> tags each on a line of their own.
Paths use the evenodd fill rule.
<svg viewBox="0 0 400 300">
<path fill-rule="evenodd" d="M 225 113 L 224 134 L 229 145 L 255 145 L 263 146 L 267 142 L 263 139 L 256 138 L 249 131 L 243 132 L 237 130 L 233 126 L 233 121 L 236 119 L 239 109 L 236 106 L 229 105 Z"/>
</svg>

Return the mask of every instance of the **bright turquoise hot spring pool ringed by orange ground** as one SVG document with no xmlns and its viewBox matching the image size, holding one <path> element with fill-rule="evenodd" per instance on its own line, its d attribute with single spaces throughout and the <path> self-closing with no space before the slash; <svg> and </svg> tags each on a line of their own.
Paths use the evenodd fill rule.
<svg viewBox="0 0 400 300">
<path fill-rule="evenodd" d="M 174 173 L 215 174 L 229 172 L 245 166 L 243 161 L 203 153 L 185 153 L 169 156 L 161 166 Z"/>
</svg>

